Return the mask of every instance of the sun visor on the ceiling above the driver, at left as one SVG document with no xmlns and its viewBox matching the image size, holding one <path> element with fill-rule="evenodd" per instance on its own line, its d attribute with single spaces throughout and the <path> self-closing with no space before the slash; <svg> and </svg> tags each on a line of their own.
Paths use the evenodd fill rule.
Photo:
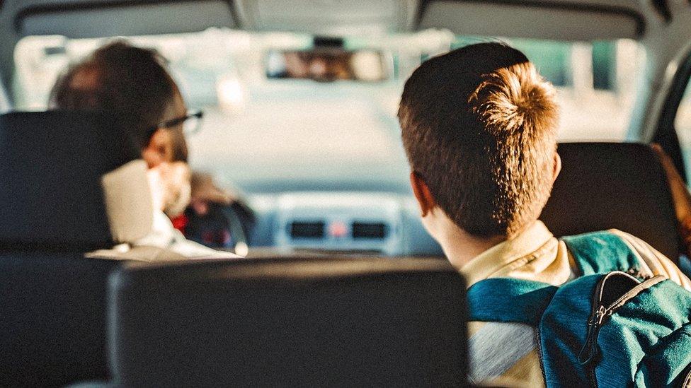
<svg viewBox="0 0 691 388">
<path fill-rule="evenodd" d="M 65 2 L 67 3 L 67 2 Z M 192 33 L 234 27 L 227 1 L 90 1 L 59 6 L 30 6 L 15 19 L 19 35 L 72 38 Z"/>
</svg>

